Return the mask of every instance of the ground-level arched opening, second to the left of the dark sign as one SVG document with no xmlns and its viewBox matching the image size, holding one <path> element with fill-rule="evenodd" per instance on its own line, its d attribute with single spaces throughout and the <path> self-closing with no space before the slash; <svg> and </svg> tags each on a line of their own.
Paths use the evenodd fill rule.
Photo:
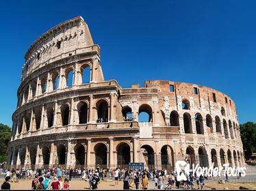
<svg viewBox="0 0 256 191">
<path fill-rule="evenodd" d="M 103 143 L 98 143 L 94 147 L 95 151 L 95 164 L 101 168 L 107 167 L 107 146 Z"/>
</svg>

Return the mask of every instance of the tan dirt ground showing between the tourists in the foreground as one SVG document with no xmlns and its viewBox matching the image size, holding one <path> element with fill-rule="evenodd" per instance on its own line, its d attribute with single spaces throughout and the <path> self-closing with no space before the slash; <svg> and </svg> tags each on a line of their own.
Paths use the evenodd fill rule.
<svg viewBox="0 0 256 191">
<path fill-rule="evenodd" d="M 0 183 L 3 183 L 3 179 L 0 179 Z M 11 190 L 31 190 L 31 180 L 20 180 L 18 183 L 10 183 L 11 184 Z M 209 186 L 206 187 L 206 186 Z M 245 188 L 249 189 L 256 189 L 256 183 L 207 183 L 205 182 L 205 189 L 211 189 L 216 188 L 218 189 L 228 189 L 228 190 L 238 190 L 240 186 L 243 186 Z M 73 179 L 71 181 L 71 190 L 80 189 L 80 190 L 88 190 L 89 183 L 88 181 L 81 181 L 80 179 Z M 154 189 L 154 182 L 149 181 L 149 188 Z M 196 188 L 196 187 L 194 187 Z M 100 181 L 98 189 L 104 189 L 104 190 L 120 190 L 123 189 L 123 181 L 119 181 L 118 186 L 115 186 L 114 181 Z M 131 188 L 132 190 L 135 190 L 135 188 Z"/>
</svg>

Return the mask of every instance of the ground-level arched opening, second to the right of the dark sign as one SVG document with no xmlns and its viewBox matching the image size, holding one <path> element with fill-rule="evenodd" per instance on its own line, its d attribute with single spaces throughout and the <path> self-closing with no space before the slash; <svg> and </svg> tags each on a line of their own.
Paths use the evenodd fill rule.
<svg viewBox="0 0 256 191">
<path fill-rule="evenodd" d="M 172 147 L 164 145 L 161 149 L 161 164 L 162 169 L 166 168 L 168 171 L 174 169 L 174 153 Z"/>
</svg>

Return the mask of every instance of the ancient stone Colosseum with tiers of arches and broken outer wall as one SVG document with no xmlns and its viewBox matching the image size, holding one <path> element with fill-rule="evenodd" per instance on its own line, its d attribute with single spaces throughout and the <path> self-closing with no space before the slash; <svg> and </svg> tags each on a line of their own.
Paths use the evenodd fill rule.
<svg viewBox="0 0 256 191">
<path fill-rule="evenodd" d="M 10 168 L 173 169 L 244 165 L 235 103 L 201 85 L 104 80 L 100 47 L 81 16 L 43 33 L 27 50 L 8 145 Z M 152 71 L 153 72 L 153 71 Z"/>
</svg>

